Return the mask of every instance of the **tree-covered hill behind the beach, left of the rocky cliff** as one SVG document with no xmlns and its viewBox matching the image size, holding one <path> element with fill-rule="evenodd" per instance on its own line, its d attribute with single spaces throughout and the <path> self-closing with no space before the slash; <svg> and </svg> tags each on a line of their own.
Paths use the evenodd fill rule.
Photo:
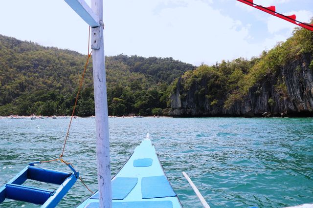
<svg viewBox="0 0 313 208">
<path fill-rule="evenodd" d="M 0 35 L 0 115 L 70 115 L 87 56 Z M 106 57 L 110 115 L 161 114 L 169 84 L 195 67 L 172 58 Z M 92 63 L 76 115 L 94 115 Z"/>
</svg>

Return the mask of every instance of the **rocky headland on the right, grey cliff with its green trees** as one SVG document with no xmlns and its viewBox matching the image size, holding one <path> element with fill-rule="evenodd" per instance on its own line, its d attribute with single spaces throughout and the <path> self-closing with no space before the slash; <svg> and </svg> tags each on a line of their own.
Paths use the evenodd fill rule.
<svg viewBox="0 0 313 208">
<path fill-rule="evenodd" d="M 313 23 L 313 22 L 312 22 Z M 313 32 L 251 60 L 201 65 L 173 83 L 173 116 L 313 116 Z"/>
</svg>

